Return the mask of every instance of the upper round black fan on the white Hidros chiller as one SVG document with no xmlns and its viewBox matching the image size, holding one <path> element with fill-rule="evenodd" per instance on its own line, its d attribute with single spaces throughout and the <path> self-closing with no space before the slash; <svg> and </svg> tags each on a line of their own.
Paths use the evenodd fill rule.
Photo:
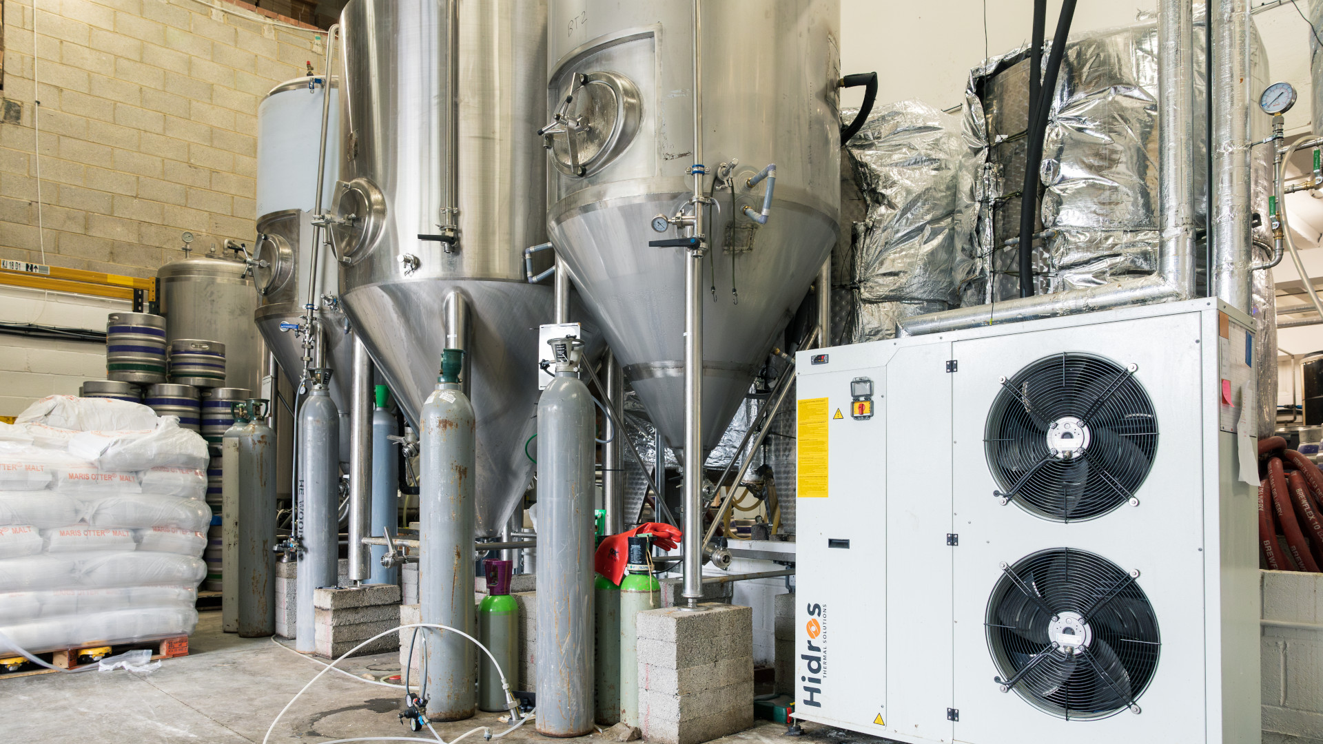
<svg viewBox="0 0 1323 744">
<path fill-rule="evenodd" d="M 1134 499 L 1158 449 L 1154 406 L 1135 369 L 1058 353 L 1003 379 L 984 434 L 994 495 L 1062 522 Z"/>
</svg>

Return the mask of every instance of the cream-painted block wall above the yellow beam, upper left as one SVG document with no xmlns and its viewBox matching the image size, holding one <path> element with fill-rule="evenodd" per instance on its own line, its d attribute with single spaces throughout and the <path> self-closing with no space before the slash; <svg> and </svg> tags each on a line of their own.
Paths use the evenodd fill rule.
<svg viewBox="0 0 1323 744">
<path fill-rule="evenodd" d="M 180 233 L 251 245 L 257 107 L 320 70 L 323 33 L 225 0 L 0 0 L 0 258 L 153 275 Z M 33 19 L 36 3 L 36 19 Z M 41 101 L 37 229 L 33 21 Z"/>
</svg>

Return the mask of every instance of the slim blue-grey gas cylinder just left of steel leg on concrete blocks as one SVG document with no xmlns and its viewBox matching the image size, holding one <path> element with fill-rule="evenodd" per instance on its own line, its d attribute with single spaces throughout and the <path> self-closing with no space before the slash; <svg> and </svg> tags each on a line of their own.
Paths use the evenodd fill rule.
<svg viewBox="0 0 1323 744">
<path fill-rule="evenodd" d="M 299 518 L 298 608 L 295 647 L 304 654 L 316 650 L 314 589 L 333 586 L 340 557 L 340 414 L 331 402 L 328 369 L 314 372 L 312 391 L 299 406 L 299 488 L 295 494 Z M 470 604 L 472 606 L 472 604 Z"/>
</svg>

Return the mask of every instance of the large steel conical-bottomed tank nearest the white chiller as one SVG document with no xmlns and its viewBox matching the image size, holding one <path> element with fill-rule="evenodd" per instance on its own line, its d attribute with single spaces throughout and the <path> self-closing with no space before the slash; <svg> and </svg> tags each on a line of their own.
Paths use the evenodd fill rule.
<svg viewBox="0 0 1323 744">
<path fill-rule="evenodd" d="M 691 167 L 706 173 L 703 189 L 721 207 L 700 226 L 710 256 L 703 285 L 718 290 L 703 303 L 710 449 L 836 242 L 840 3 L 703 3 L 697 111 L 695 5 L 554 3 L 538 126 L 573 93 L 564 115 L 583 127 L 550 127 L 546 138 L 548 237 L 672 447 L 684 432 L 687 252 L 648 241 L 683 236 L 664 220 L 664 234 L 654 232 L 654 217 L 675 216 L 693 195 Z M 775 177 L 750 183 L 769 164 Z M 759 224 L 744 208 L 762 218 L 767 196 Z"/>
</svg>

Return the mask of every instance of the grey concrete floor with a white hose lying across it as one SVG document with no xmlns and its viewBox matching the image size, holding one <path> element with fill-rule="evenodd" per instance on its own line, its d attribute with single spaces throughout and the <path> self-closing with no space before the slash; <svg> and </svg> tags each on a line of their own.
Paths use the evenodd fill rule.
<svg viewBox="0 0 1323 744">
<path fill-rule="evenodd" d="M 147 674 L 127 671 L 45 674 L 0 679 L 0 725 L 7 743 L 77 740 L 81 744 L 261 743 L 271 720 L 319 671 L 318 665 L 278 649 L 270 638 L 221 633 L 221 613 L 204 612 L 189 639 L 189 655 L 165 659 Z M 400 654 L 348 659 L 348 671 L 376 678 L 398 673 Z M 314 744 L 353 736 L 419 736 L 400 723 L 397 690 L 363 684 L 327 673 L 314 684 L 267 740 Z M 504 727 L 497 714 L 434 724 L 450 740 L 476 725 Z M 718 739 L 722 744 L 873 744 L 884 740 L 816 724 L 804 724 L 799 739 L 785 727 L 758 721 L 754 728 Z M 419 740 L 430 741 L 431 739 Z M 512 733 L 513 743 L 573 741 L 545 739 L 532 724 Z M 476 735 L 466 739 L 480 743 Z M 578 741 L 601 743 L 601 736 Z"/>
</svg>

